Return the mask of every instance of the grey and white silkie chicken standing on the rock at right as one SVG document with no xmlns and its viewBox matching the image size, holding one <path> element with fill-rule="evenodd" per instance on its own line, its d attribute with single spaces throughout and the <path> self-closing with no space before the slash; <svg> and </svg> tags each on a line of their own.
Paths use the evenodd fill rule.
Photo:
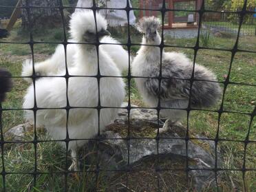
<svg viewBox="0 0 256 192">
<path fill-rule="evenodd" d="M 178 52 L 162 52 L 162 81 L 160 76 L 160 45 L 158 33 L 160 20 L 155 17 L 140 19 L 137 28 L 143 33 L 142 46 L 131 64 L 136 85 L 143 100 L 150 107 L 167 108 L 160 110 L 160 116 L 167 118 L 163 128 L 168 129 L 186 115 L 191 94 L 191 107 L 211 107 L 221 96 L 221 88 L 215 74 L 206 67 L 195 64 L 184 54 Z M 189 79 L 193 72 L 193 84 Z M 160 86 L 159 86 L 160 85 Z M 168 109 L 173 108 L 173 109 Z"/>
</svg>

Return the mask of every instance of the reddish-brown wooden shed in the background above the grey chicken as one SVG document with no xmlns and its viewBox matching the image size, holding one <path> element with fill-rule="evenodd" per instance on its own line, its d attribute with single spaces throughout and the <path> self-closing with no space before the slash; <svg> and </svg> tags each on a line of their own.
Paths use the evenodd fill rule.
<svg viewBox="0 0 256 192">
<path fill-rule="evenodd" d="M 140 0 L 140 18 L 155 16 L 162 18 L 159 9 L 162 8 L 162 0 Z M 199 15 L 192 10 L 200 10 L 202 0 L 166 0 L 165 7 L 171 10 L 164 15 L 164 28 L 198 28 Z M 148 9 L 148 10 L 147 10 Z M 191 10 L 182 11 L 182 10 Z"/>
</svg>

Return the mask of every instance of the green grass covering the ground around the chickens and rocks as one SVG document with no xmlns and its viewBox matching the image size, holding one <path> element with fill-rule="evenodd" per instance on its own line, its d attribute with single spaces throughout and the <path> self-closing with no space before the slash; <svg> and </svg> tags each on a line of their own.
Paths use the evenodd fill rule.
<svg viewBox="0 0 256 192">
<path fill-rule="evenodd" d="M 126 43 L 127 39 L 120 36 L 118 33 L 114 33 L 119 40 Z M 36 41 L 54 41 L 59 42 L 61 40 L 61 29 L 47 30 L 47 32 L 41 32 L 35 36 Z M 141 36 L 132 33 L 131 41 L 133 43 L 139 43 Z M 28 36 L 24 33 L 13 31 L 10 39 L 5 41 L 28 41 Z M 189 58 L 193 59 L 193 49 L 186 47 L 194 46 L 196 39 L 171 39 L 166 38 L 167 45 L 184 46 L 184 48 L 177 47 L 165 47 L 165 51 L 178 51 L 184 52 Z M 226 48 L 232 49 L 235 38 L 222 39 L 217 37 L 210 37 L 208 47 Z M 201 43 L 201 42 L 200 42 Z M 201 45 L 201 44 L 200 44 Z M 35 53 L 39 54 L 51 54 L 54 52 L 55 45 L 42 44 L 35 45 Z M 138 46 L 131 47 L 131 53 L 135 54 L 138 50 Z M 256 38 L 241 37 L 239 39 L 239 49 L 242 50 L 256 50 Z M 21 56 L 31 54 L 30 47 L 28 45 L 8 44 L 0 43 L 0 67 L 6 67 L 14 76 L 19 76 L 21 73 Z M 10 57 L 10 58 L 8 58 Z M 217 50 L 198 50 L 196 57 L 196 63 L 204 65 L 211 69 L 217 75 L 219 81 L 224 81 L 228 74 L 231 61 L 231 52 L 217 51 Z M 237 52 L 231 67 L 230 81 L 234 83 L 248 83 L 250 85 L 256 85 L 256 55 L 247 52 Z M 6 102 L 3 103 L 4 109 L 21 108 L 25 89 L 28 84 L 21 78 L 14 78 L 14 88 L 12 92 L 8 94 Z M 242 113 L 251 113 L 255 109 L 256 88 L 248 85 L 228 85 L 226 94 L 224 97 L 224 110 L 238 111 Z M 145 106 L 142 102 L 138 90 L 136 89 L 134 79 L 131 81 L 131 103 Z M 220 107 L 220 104 L 213 109 Z M 193 133 L 191 136 L 197 135 L 205 136 L 207 138 L 215 138 L 217 133 L 217 120 L 218 114 L 208 111 L 191 111 L 189 115 L 189 129 Z M 3 132 L 8 129 L 23 123 L 23 111 L 3 111 Z M 250 116 L 242 114 L 223 113 L 220 118 L 219 138 L 228 140 L 244 140 L 248 133 L 248 126 L 250 122 Z M 186 121 L 182 122 L 186 125 Z M 250 140 L 256 140 L 256 120 L 253 121 L 250 129 Z M 146 133 L 147 132 L 147 133 Z M 145 134 L 151 135 L 149 131 Z M 32 141 L 34 139 L 33 131 L 23 138 L 25 141 Z M 38 131 L 39 140 L 47 140 L 47 135 L 44 132 Z M 144 136 L 143 133 L 138 134 Z M 8 139 L 8 138 L 6 138 Z M 40 172 L 61 172 L 65 170 L 65 150 L 61 149 L 60 145 L 56 142 L 40 142 L 37 145 L 37 169 Z M 241 169 L 244 162 L 244 143 L 243 142 L 228 142 L 220 141 L 218 147 L 222 152 L 222 158 L 224 159 L 222 168 L 235 168 Z M 4 145 L 4 165 L 6 171 L 9 172 L 32 172 L 34 171 L 34 145 L 32 143 L 26 144 L 6 144 Z M 255 169 L 256 167 L 256 145 L 249 143 L 246 148 L 246 168 Z M 70 164 L 70 159 L 68 164 Z M 0 170 L 3 164 L 0 161 Z M 141 162 L 143 164 L 143 162 Z M 144 164 L 145 166 L 145 164 Z M 147 166 L 145 166 L 147 168 Z M 84 167 L 82 175 L 69 174 L 67 175 L 67 189 L 68 191 L 107 191 L 107 186 L 114 181 L 108 183 L 105 180 L 105 173 L 99 174 L 98 182 L 96 182 L 96 174 L 93 172 L 86 172 L 94 170 L 94 165 L 87 164 Z M 151 168 L 150 168 L 151 169 Z M 147 172 L 147 171 L 146 171 Z M 130 185 L 138 185 L 140 180 L 145 182 L 143 177 L 150 173 L 134 173 L 132 172 L 130 177 Z M 248 191 L 256 190 L 256 171 L 247 171 L 246 187 Z M 125 180 L 125 173 L 117 175 L 119 181 Z M 174 174 L 175 175 L 175 174 Z M 152 175 L 151 175 L 152 176 Z M 152 176 L 154 177 L 154 175 Z M 171 175 L 169 175 L 171 177 Z M 175 177 L 178 177 L 176 175 Z M 135 178 L 138 178 L 135 179 Z M 162 176 L 163 183 L 169 182 L 168 177 Z M 3 189 L 3 178 L 0 177 L 0 191 Z M 153 179 L 152 179 L 153 180 Z M 174 179 L 175 180 L 175 179 Z M 220 178 L 220 190 L 221 191 L 233 191 L 231 186 L 231 180 L 235 184 L 238 191 L 242 191 L 242 172 L 241 171 L 226 171 L 222 178 Z M 33 188 L 33 176 L 30 174 L 7 174 L 6 175 L 6 190 L 7 191 L 63 191 L 65 188 L 65 175 L 63 173 L 55 174 L 40 174 L 36 177 L 36 186 Z M 107 183 L 106 183 L 107 182 Z M 134 184 L 134 185 L 133 185 Z M 168 186 L 169 184 L 167 184 Z M 143 189 L 143 186 L 141 186 Z M 153 186 L 152 186 L 153 187 Z M 180 189 L 183 189 L 183 183 L 180 184 Z M 153 188 L 152 188 L 153 190 Z M 207 191 L 207 190 L 206 190 Z M 211 191 L 209 189 L 208 191 Z"/>
</svg>

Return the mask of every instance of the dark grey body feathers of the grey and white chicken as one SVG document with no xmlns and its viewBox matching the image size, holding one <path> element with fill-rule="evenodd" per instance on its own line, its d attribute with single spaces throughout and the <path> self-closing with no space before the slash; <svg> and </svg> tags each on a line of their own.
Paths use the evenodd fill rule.
<svg viewBox="0 0 256 192">
<path fill-rule="evenodd" d="M 189 67 L 182 69 L 179 65 L 175 65 L 174 61 L 163 61 L 161 82 L 157 78 L 160 74 L 160 66 L 158 66 L 153 67 L 149 72 L 149 76 L 156 78 L 144 78 L 144 84 L 149 93 L 160 96 L 161 102 L 189 99 L 189 94 L 191 94 L 191 107 L 211 107 L 216 103 L 216 97 L 220 95 L 219 85 L 211 82 L 215 80 L 215 77 L 195 67 L 191 87 L 192 72 L 192 63 Z"/>
</svg>

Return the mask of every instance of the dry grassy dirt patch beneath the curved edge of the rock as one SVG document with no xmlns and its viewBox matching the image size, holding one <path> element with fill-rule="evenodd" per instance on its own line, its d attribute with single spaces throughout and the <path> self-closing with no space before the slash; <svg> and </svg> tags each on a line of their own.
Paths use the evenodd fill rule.
<svg viewBox="0 0 256 192">
<path fill-rule="evenodd" d="M 193 191 L 185 169 L 186 158 L 182 156 L 145 157 L 133 164 L 131 171 L 114 175 L 107 191 Z"/>
</svg>

